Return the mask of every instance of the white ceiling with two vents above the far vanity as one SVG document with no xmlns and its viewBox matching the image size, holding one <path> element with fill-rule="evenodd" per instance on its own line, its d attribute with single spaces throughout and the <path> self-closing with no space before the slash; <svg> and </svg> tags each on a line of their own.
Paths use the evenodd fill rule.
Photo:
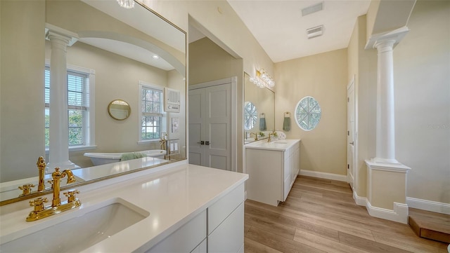
<svg viewBox="0 0 450 253">
<path fill-rule="evenodd" d="M 371 0 L 227 0 L 273 62 L 347 48 L 356 18 Z M 323 2 L 323 11 L 302 17 L 302 8 Z M 323 35 L 306 30 L 323 25 Z"/>
</svg>

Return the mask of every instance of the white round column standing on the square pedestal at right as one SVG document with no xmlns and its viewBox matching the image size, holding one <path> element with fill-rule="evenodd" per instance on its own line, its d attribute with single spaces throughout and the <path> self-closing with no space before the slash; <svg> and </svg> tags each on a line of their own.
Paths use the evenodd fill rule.
<svg viewBox="0 0 450 253">
<path fill-rule="evenodd" d="M 376 151 L 373 161 L 381 163 L 398 163 L 395 159 L 394 43 L 394 39 L 385 39 L 374 45 L 378 50 L 378 73 Z"/>
</svg>

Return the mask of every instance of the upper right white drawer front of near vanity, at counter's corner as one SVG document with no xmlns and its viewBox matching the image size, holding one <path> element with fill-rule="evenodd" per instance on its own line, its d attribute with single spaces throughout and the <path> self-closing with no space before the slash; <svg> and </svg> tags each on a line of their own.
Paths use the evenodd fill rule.
<svg viewBox="0 0 450 253">
<path fill-rule="evenodd" d="M 244 201 L 244 184 L 240 184 L 226 196 L 208 207 L 208 235 Z"/>
</svg>

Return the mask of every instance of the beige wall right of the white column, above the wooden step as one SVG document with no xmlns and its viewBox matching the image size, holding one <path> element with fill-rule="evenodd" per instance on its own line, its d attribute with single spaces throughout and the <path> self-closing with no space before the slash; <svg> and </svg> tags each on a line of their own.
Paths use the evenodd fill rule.
<svg viewBox="0 0 450 253">
<path fill-rule="evenodd" d="M 450 1 L 417 1 L 394 48 L 396 158 L 407 196 L 450 203 Z"/>
</svg>

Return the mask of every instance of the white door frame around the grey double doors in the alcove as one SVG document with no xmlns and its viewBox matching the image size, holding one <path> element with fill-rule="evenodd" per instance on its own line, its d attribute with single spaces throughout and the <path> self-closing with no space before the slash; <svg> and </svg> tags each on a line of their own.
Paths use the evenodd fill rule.
<svg viewBox="0 0 450 253">
<path fill-rule="evenodd" d="M 219 79 L 215 81 L 209 81 L 205 83 L 198 83 L 188 86 L 188 90 L 195 90 L 200 88 L 206 88 L 211 86 L 220 86 L 222 84 L 231 83 L 231 171 L 237 171 L 237 146 L 236 146 L 236 132 L 237 132 L 237 121 L 236 121 L 236 97 L 238 90 L 238 77 L 233 76 L 229 78 Z M 189 125 L 189 123 L 188 123 Z M 188 153 L 188 151 L 186 151 Z"/>
</svg>

